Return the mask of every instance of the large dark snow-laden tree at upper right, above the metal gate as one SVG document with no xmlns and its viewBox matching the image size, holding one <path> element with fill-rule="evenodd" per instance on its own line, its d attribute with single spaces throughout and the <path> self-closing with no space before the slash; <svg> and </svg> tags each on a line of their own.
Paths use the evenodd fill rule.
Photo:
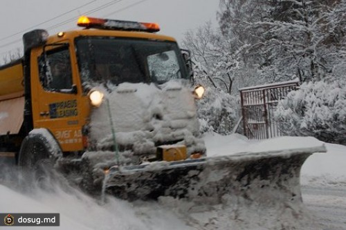
<svg viewBox="0 0 346 230">
<path fill-rule="evenodd" d="M 266 82 L 294 75 L 318 81 L 333 71 L 345 46 L 345 10 L 345 0 L 221 0 L 219 24 L 248 44 L 243 57 Z"/>
</svg>

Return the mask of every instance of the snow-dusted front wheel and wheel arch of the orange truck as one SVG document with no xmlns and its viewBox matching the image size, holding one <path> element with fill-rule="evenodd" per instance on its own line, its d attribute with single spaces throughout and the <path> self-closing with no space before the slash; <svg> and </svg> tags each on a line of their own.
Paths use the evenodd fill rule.
<svg viewBox="0 0 346 230">
<path fill-rule="evenodd" d="M 62 155 L 59 144 L 46 129 L 34 130 L 21 143 L 19 166 L 26 182 L 44 185 L 53 172 L 54 164 Z"/>
</svg>

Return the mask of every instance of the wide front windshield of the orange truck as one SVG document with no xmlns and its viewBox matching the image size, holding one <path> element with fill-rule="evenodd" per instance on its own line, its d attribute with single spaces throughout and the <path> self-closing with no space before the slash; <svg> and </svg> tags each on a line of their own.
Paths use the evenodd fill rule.
<svg viewBox="0 0 346 230">
<path fill-rule="evenodd" d="M 122 82 L 163 84 L 170 79 L 188 78 L 174 42 L 113 37 L 80 37 L 75 42 L 84 86 Z"/>
</svg>

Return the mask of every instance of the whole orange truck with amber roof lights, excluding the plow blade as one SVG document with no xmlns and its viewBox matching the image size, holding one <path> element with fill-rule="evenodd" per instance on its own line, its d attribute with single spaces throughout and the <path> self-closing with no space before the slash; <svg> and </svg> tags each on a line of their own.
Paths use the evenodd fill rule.
<svg viewBox="0 0 346 230">
<path fill-rule="evenodd" d="M 27 32 L 24 57 L 0 67 L 1 156 L 32 166 L 115 148 L 132 151 L 136 164 L 203 155 L 194 106 L 203 88 L 192 87 L 187 52 L 157 35 L 156 23 L 81 17 L 78 25 Z"/>
</svg>

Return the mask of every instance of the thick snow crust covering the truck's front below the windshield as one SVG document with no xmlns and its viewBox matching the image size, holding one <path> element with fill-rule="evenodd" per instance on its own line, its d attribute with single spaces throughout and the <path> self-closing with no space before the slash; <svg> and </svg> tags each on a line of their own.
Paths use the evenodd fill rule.
<svg viewBox="0 0 346 230">
<path fill-rule="evenodd" d="M 194 99 L 183 84 L 167 82 L 158 88 L 123 83 L 104 93 L 106 102 L 91 115 L 90 137 L 95 149 L 112 148 L 113 128 L 120 151 L 132 151 L 134 157 L 154 155 L 155 146 L 162 144 L 185 144 L 188 153 L 205 151 Z"/>
</svg>

